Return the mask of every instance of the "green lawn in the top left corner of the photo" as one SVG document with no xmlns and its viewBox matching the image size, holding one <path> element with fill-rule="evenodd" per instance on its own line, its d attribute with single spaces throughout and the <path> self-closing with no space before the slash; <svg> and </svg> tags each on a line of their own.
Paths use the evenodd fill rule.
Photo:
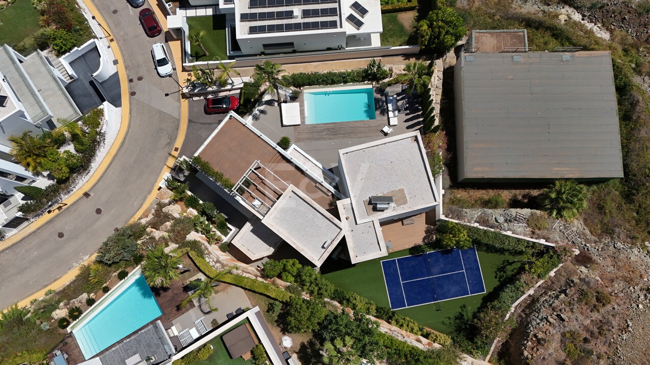
<svg viewBox="0 0 650 365">
<path fill-rule="evenodd" d="M 32 7 L 29 0 L 17 0 L 8 8 L 0 10 L 0 45 L 20 43 L 23 39 L 34 34 L 40 25 L 38 24 L 38 10 Z"/>
</svg>

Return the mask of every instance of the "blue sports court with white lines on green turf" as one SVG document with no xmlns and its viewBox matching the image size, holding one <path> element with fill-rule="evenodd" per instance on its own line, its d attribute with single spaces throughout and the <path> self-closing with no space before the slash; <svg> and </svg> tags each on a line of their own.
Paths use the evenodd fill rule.
<svg viewBox="0 0 650 365">
<path fill-rule="evenodd" d="M 485 293 L 476 249 L 439 250 L 382 261 L 391 309 Z"/>
</svg>

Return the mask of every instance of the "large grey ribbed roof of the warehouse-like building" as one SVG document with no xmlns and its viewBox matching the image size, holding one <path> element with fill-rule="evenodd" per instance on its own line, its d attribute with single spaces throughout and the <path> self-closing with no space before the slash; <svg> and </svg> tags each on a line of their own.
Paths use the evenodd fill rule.
<svg viewBox="0 0 650 365">
<path fill-rule="evenodd" d="M 476 52 L 458 62 L 460 180 L 623 177 L 609 51 Z"/>
</svg>

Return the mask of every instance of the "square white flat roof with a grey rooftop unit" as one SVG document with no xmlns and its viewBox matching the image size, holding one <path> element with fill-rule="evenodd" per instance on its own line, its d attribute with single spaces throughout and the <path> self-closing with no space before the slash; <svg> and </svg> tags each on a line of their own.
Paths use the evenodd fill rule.
<svg viewBox="0 0 650 365">
<path fill-rule="evenodd" d="M 419 131 L 345 148 L 339 161 L 357 224 L 439 202 Z M 368 200 L 373 195 L 393 195 L 396 206 L 372 211 Z"/>
</svg>

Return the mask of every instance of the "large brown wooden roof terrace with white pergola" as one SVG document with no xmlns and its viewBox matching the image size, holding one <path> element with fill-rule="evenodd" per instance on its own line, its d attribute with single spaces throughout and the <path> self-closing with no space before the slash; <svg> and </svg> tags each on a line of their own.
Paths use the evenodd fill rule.
<svg viewBox="0 0 650 365">
<path fill-rule="evenodd" d="M 307 178 L 239 120 L 226 120 L 199 155 L 233 183 L 244 176 L 253 162 L 259 161 L 272 171 L 272 174 L 265 171 L 264 177 L 279 189 L 284 191 L 285 183 L 292 184 L 323 208 L 328 208 L 331 201 L 331 194 L 325 187 Z"/>
</svg>

